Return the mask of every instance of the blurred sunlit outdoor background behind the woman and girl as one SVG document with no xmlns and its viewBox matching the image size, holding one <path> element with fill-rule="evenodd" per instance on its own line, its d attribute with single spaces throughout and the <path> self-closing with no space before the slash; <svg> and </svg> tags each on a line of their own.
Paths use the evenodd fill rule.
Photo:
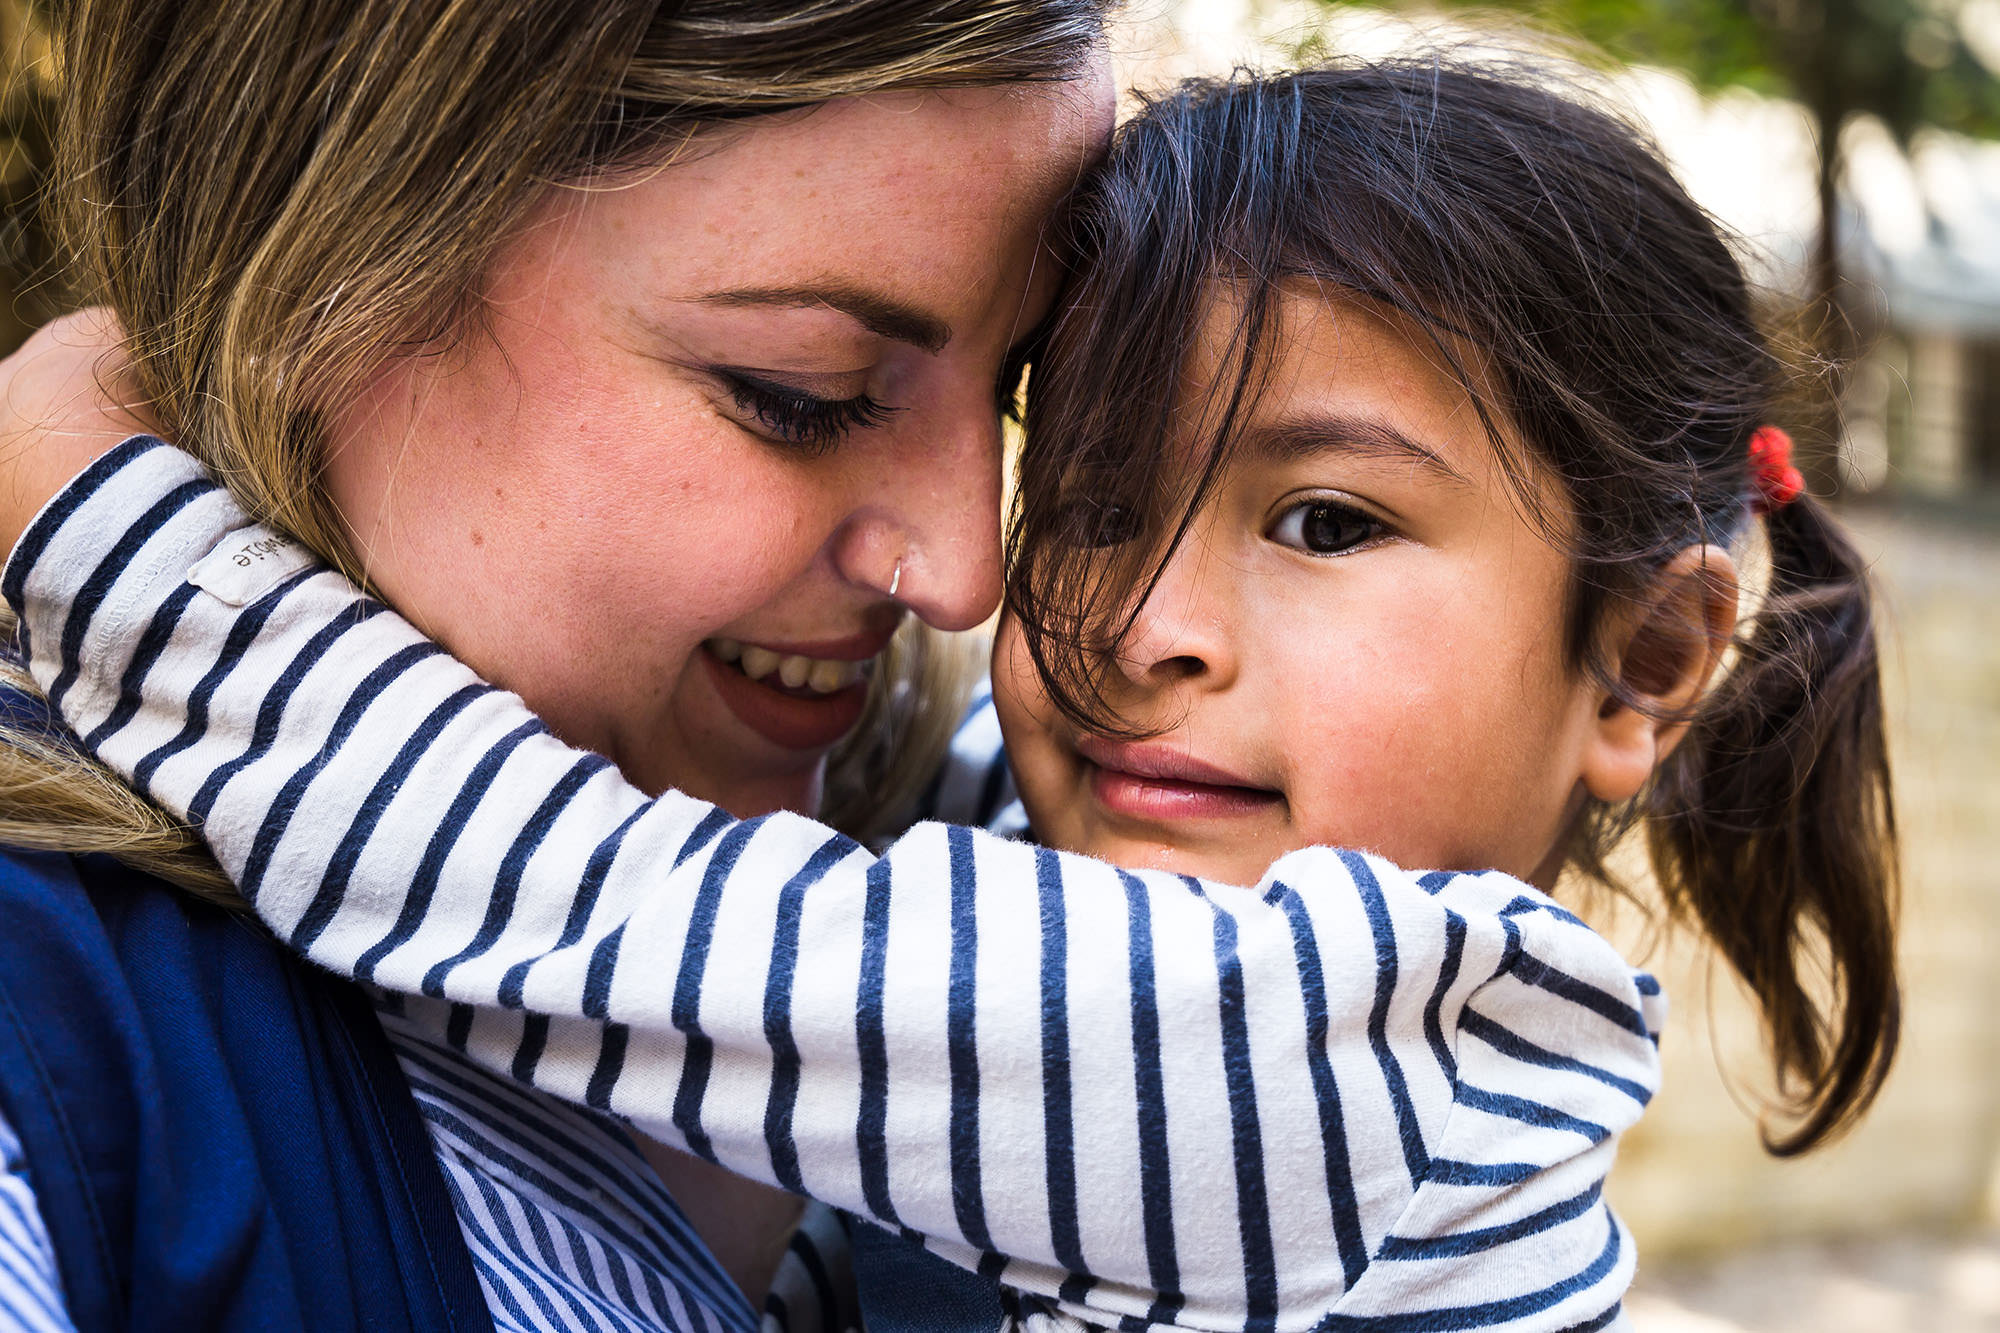
<svg viewBox="0 0 2000 1333">
<path fill-rule="evenodd" d="M 1526 36 L 1524 36 L 1526 34 Z M 1838 372 L 1788 420 L 1886 602 L 1906 837 L 1904 1047 L 1868 1121 L 1758 1147 L 1734 979 L 1640 909 L 1666 1091 L 1612 1179 L 1640 1333 L 2000 1331 L 2000 0 L 1134 0 L 1124 86 L 1428 40 L 1552 44 L 1642 118 Z M 0 0 L 0 350 L 64 304 L 38 214 L 46 8 Z"/>
</svg>

